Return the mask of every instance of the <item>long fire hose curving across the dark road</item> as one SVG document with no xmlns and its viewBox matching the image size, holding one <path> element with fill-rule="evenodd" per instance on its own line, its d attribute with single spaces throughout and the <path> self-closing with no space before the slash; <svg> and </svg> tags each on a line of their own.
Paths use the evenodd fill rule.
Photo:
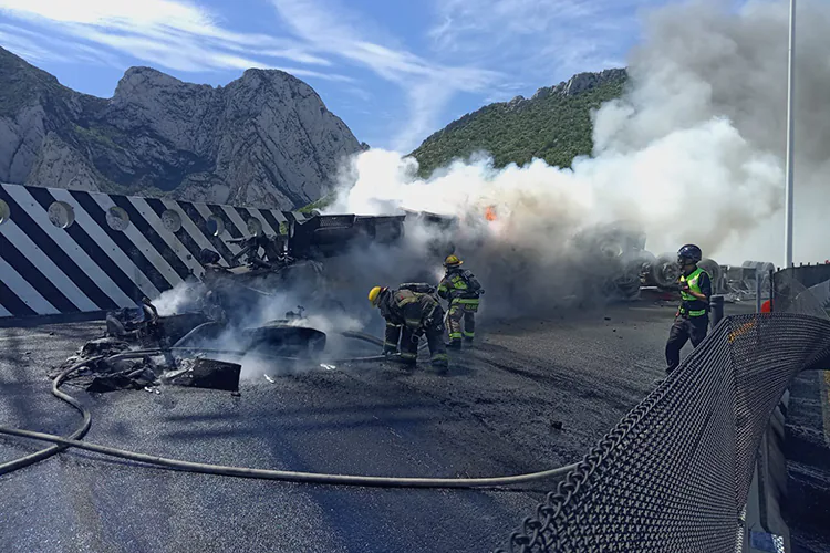
<svg viewBox="0 0 830 553">
<path fill-rule="evenodd" d="M 355 340 L 362 340 L 373 344 L 382 344 L 383 341 L 364 333 L 347 332 L 343 333 L 346 337 Z M 199 348 L 181 348 L 205 351 Z M 127 358 L 129 356 L 148 355 L 153 352 L 165 353 L 170 349 L 145 349 L 142 352 L 131 352 L 127 354 L 118 354 L 111 356 L 110 358 Z M 151 352 L 151 353 L 148 353 Z M 240 353 L 240 352 L 226 352 L 226 353 Z M 30 438 L 41 441 L 52 442 L 52 446 L 35 451 L 28 456 L 14 459 L 12 461 L 0 465 L 0 476 L 8 474 L 15 470 L 24 467 L 34 465 L 35 462 L 48 459 L 68 448 L 74 447 L 77 449 L 84 449 L 96 453 L 117 457 L 131 461 L 147 463 L 156 467 L 184 470 L 188 472 L 198 472 L 204 474 L 219 474 L 237 478 L 255 478 L 264 480 L 280 480 L 288 482 L 302 482 L 302 483 L 317 483 L 317 484 L 332 484 L 332 486 L 359 486 L 359 487 L 372 487 L 372 488 L 449 488 L 449 489 L 463 489 L 463 488 L 492 488 L 501 486 L 511 486 L 526 483 L 531 481 L 544 480 L 549 478 L 561 478 L 578 468 L 579 463 L 567 465 L 549 470 L 542 470 L 539 472 L 529 472 L 525 474 L 515 474 L 509 477 L 486 477 L 486 478 L 397 478 L 397 477 L 369 477 L 369 476 L 353 476 L 353 474 L 326 474 L 319 472 L 297 472 L 290 470 L 272 470 L 272 469 L 253 469 L 247 467 L 230 467 L 222 465 L 210 465 L 201 462 L 183 461 L 179 459 L 170 459 L 166 457 L 157 457 L 146 453 L 138 453 L 128 451 L 125 449 L 113 448 L 107 446 L 100 446 L 96 444 L 90 444 L 82 441 L 83 437 L 92 426 L 92 414 L 84 407 L 81 401 L 76 398 L 61 392 L 60 387 L 63 382 L 75 371 L 84 367 L 85 365 L 104 359 L 104 356 L 92 357 L 83 362 L 76 363 L 68 369 L 63 371 L 52 380 L 52 395 L 59 399 L 68 403 L 81 414 L 82 422 L 81 426 L 75 429 L 72 434 L 66 437 L 55 436 L 44 432 L 35 432 L 31 430 L 22 430 L 18 428 L 7 428 L 0 426 L 0 434 L 8 436 L 17 436 L 21 438 Z M 295 357 L 282 357 L 283 359 L 295 359 Z M 375 357 L 355 357 L 353 359 L 329 359 L 329 362 L 347 363 L 350 361 L 378 361 L 384 359 L 384 356 Z"/>
</svg>

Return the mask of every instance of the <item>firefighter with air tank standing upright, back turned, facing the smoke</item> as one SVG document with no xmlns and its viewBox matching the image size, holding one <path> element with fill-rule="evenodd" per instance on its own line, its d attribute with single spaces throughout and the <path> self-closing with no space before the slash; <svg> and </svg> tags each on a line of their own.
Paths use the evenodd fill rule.
<svg viewBox="0 0 830 553">
<path fill-rule="evenodd" d="M 466 342 L 473 342 L 476 336 L 476 312 L 478 311 L 479 298 L 484 294 L 481 284 L 471 272 L 463 270 L 464 261 L 457 255 L 447 255 L 444 267 L 447 273 L 438 284 L 438 295 L 447 302 L 447 327 L 449 328 L 449 343 L 447 347 L 460 349 L 461 337 Z M 464 328 L 461 330 L 461 322 Z"/>
</svg>

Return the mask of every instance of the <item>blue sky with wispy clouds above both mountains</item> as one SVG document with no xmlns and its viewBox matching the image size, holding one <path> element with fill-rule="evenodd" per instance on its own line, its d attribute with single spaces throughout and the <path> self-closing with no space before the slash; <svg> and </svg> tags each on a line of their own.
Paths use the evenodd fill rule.
<svg viewBox="0 0 830 553">
<path fill-rule="evenodd" d="M 0 45 L 108 97 L 148 65 L 224 85 L 308 82 L 360 140 L 408 153 L 465 113 L 622 66 L 668 0 L 0 0 Z"/>
</svg>

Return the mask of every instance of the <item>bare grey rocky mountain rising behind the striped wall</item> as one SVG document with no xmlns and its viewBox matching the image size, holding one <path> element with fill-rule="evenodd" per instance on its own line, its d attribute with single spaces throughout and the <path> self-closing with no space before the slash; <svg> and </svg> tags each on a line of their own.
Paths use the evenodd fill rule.
<svg viewBox="0 0 830 553">
<path fill-rule="evenodd" d="M 291 209 L 365 147 L 281 71 L 212 87 L 133 67 L 106 100 L 0 48 L 0 83 L 3 182 Z"/>
</svg>

